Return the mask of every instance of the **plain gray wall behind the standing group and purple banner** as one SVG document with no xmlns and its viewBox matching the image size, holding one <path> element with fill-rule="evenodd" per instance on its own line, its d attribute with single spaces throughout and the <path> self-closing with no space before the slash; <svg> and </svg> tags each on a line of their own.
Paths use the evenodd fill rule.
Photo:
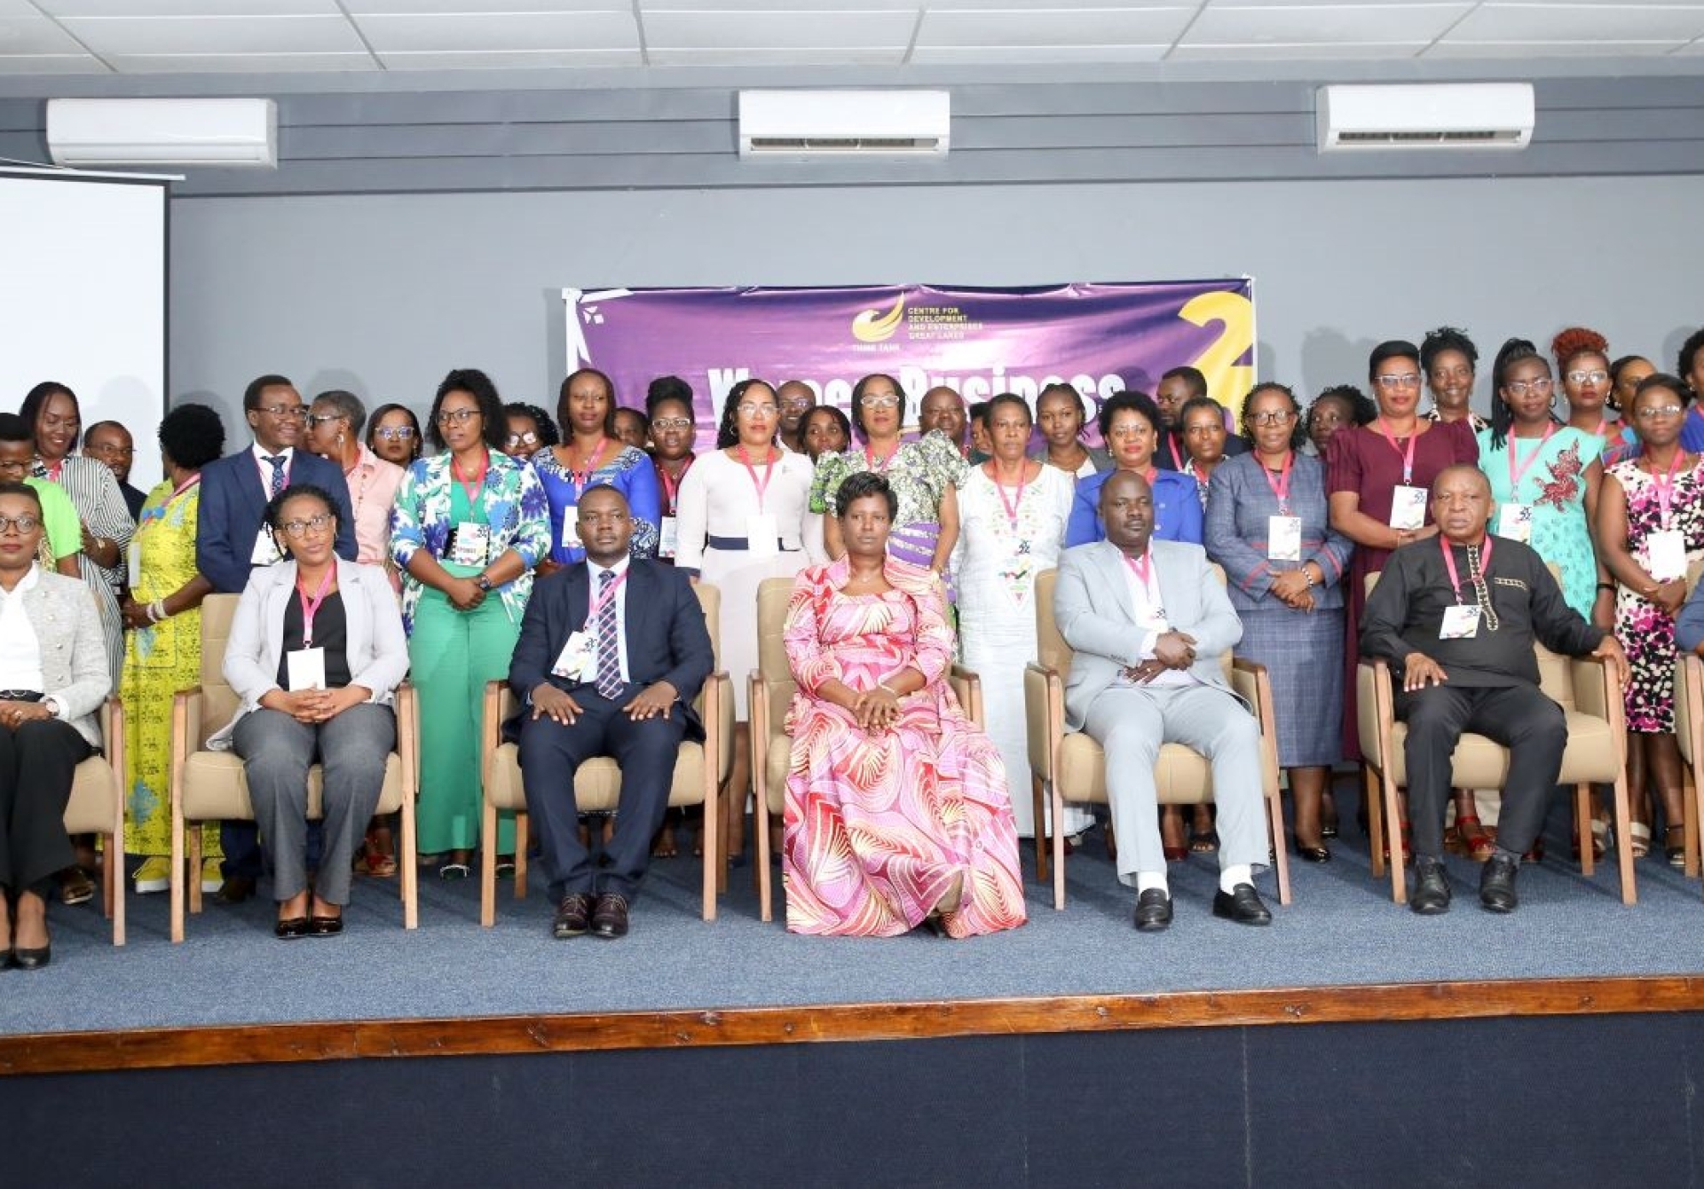
<svg viewBox="0 0 1704 1189">
<path fill-rule="evenodd" d="M 453 366 L 554 407 L 567 286 L 1038 284 L 1249 273 L 1259 375 L 1312 395 L 1440 322 L 1486 363 L 1585 322 L 1672 366 L 1704 177 L 661 189 L 172 204 L 170 387 L 285 371 L 424 409 Z M 1488 368 L 1477 404 L 1486 407 Z"/>
</svg>

